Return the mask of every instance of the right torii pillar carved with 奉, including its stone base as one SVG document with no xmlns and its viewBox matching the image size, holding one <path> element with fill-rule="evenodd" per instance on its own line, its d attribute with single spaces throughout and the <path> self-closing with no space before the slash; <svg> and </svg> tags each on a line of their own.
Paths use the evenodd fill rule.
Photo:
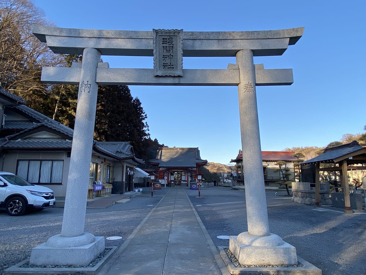
<svg viewBox="0 0 366 275">
<path fill-rule="evenodd" d="M 230 236 L 229 250 L 241 265 L 297 265 L 296 248 L 269 232 L 253 52 L 238 51 L 236 64 L 248 231 Z"/>
</svg>

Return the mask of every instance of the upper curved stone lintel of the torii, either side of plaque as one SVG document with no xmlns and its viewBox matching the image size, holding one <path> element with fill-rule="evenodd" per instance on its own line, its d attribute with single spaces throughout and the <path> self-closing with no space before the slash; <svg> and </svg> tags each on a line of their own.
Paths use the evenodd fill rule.
<svg viewBox="0 0 366 275">
<path fill-rule="evenodd" d="M 243 32 L 183 32 L 183 56 L 235 56 L 251 49 L 254 56 L 282 55 L 302 36 L 304 27 Z M 66 29 L 32 26 L 33 34 L 57 54 L 82 54 L 96 48 L 101 55 L 153 56 L 153 32 Z"/>
</svg>

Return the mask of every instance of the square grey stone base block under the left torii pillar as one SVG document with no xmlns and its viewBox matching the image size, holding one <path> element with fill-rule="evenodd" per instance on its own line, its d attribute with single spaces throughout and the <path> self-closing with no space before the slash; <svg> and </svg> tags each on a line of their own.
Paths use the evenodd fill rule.
<svg viewBox="0 0 366 275">
<path fill-rule="evenodd" d="M 32 249 L 31 265 L 89 265 L 104 251 L 104 237 L 95 237 L 92 243 L 74 247 L 52 247 L 42 243 Z"/>
</svg>

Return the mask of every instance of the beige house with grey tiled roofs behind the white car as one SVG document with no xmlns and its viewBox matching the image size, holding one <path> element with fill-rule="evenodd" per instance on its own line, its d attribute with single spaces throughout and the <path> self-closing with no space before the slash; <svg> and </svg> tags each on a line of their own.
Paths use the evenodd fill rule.
<svg viewBox="0 0 366 275">
<path fill-rule="evenodd" d="M 27 107 L 22 98 L 1 88 L 0 117 L 1 171 L 49 187 L 57 199 L 63 199 L 74 131 Z M 129 142 L 94 140 L 90 179 L 92 183 L 112 185 L 113 194 L 132 191 L 135 165 L 143 163 L 135 157 Z"/>
</svg>

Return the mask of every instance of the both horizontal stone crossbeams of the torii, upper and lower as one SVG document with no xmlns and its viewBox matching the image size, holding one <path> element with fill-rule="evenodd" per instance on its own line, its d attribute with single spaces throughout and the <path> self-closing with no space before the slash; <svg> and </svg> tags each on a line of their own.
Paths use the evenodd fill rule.
<svg viewBox="0 0 366 275">
<path fill-rule="evenodd" d="M 172 37 L 179 37 L 180 57 L 213 57 L 236 56 L 241 50 L 251 50 L 253 56 L 281 55 L 288 45 L 294 45 L 299 40 L 303 30 L 304 27 L 250 32 L 183 32 L 32 26 L 33 34 L 40 41 L 46 42 L 57 54 L 83 54 L 84 49 L 94 48 L 101 55 L 154 56 L 154 69 L 109 68 L 108 63 L 98 63 L 95 79 L 98 85 L 237 86 L 240 83 L 238 64 L 229 64 L 227 69 L 183 69 L 182 58 L 176 60 L 178 69 L 171 66 L 174 70 L 170 71 L 169 66 L 173 63 L 159 63 L 160 59 L 170 55 L 163 54 L 162 58 L 154 55 L 160 52 L 160 48 L 154 47 L 154 43 L 155 46 L 157 44 L 157 32 L 168 34 L 168 37 L 170 34 Z M 161 43 L 163 44 L 163 40 Z M 160 42 L 158 44 L 160 47 Z M 162 45 L 161 47 L 164 48 Z M 168 70 L 164 70 L 164 66 Z M 263 64 L 257 64 L 253 69 L 256 86 L 291 85 L 294 82 L 292 69 L 264 69 Z M 76 62 L 71 67 L 43 67 L 41 81 L 51 84 L 79 84 L 81 70 L 81 63 Z"/>
</svg>

